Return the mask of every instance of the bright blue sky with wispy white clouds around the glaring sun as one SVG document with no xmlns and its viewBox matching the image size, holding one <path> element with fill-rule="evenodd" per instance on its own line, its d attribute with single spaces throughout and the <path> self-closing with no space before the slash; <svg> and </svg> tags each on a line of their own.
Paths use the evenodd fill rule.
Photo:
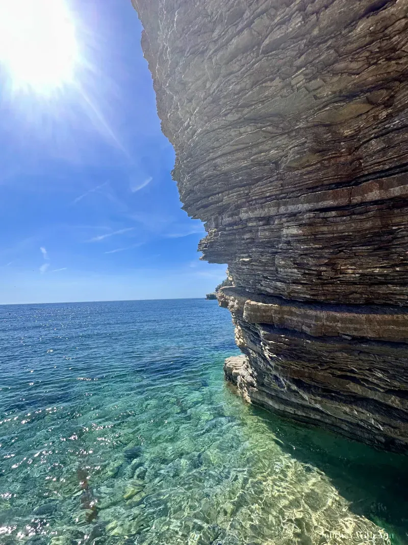
<svg viewBox="0 0 408 545">
<path fill-rule="evenodd" d="M 0 28 L 0 304 L 204 296 L 226 265 L 199 261 L 205 231 L 171 179 L 131 1 L 55 2 L 76 44 L 56 87 L 23 79 L 43 75 L 41 55 L 44 81 L 57 78 L 58 44 L 43 54 L 28 44 L 25 64 L 14 47 L 13 64 L 14 23 Z"/>
</svg>

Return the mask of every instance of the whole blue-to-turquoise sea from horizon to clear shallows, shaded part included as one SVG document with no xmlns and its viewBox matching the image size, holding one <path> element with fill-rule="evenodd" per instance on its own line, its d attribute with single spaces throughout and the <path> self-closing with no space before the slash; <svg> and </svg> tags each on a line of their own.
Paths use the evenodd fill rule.
<svg viewBox="0 0 408 545">
<path fill-rule="evenodd" d="M 407 458 L 224 383 L 216 301 L 0 307 L 3 545 L 407 544 Z"/>
</svg>

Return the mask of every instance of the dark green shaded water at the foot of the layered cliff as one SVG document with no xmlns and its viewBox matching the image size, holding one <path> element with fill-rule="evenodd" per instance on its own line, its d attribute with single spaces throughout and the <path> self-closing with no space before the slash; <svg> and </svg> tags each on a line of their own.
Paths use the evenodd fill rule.
<svg viewBox="0 0 408 545">
<path fill-rule="evenodd" d="M 267 423 L 282 451 L 322 471 L 350 502 L 351 512 L 366 517 L 408 545 L 408 457 L 376 450 L 308 424 L 298 424 L 251 405 Z"/>
</svg>

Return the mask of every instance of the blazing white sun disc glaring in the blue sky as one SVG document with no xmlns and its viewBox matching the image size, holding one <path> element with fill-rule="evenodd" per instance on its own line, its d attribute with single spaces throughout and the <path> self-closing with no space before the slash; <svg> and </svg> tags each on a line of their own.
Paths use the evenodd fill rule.
<svg viewBox="0 0 408 545">
<path fill-rule="evenodd" d="M 0 0 L 0 65 L 13 88 L 47 94 L 72 83 L 78 54 L 64 0 Z"/>
</svg>

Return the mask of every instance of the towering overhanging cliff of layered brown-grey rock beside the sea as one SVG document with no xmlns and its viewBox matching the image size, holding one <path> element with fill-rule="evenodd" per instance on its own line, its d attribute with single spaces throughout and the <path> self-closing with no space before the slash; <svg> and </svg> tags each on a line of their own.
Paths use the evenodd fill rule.
<svg viewBox="0 0 408 545">
<path fill-rule="evenodd" d="M 408 2 L 133 0 L 252 402 L 408 446 Z"/>
</svg>

